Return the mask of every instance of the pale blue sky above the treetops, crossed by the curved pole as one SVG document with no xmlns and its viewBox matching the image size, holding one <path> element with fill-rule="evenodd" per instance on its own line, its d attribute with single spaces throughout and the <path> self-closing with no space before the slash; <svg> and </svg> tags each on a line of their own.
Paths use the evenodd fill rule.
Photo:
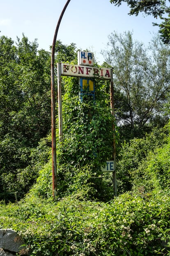
<svg viewBox="0 0 170 256">
<path fill-rule="evenodd" d="M 57 21 L 67 0 L 0 0 L 0 36 L 16 41 L 22 33 L 29 41 L 37 38 L 39 49 L 49 50 Z M 152 16 L 129 16 L 126 4 L 115 7 L 109 0 L 71 0 L 60 24 L 57 40 L 64 45 L 75 43 L 80 50 L 94 52 L 104 61 L 101 50 L 107 48 L 113 31 L 133 31 L 133 39 L 146 46 L 158 28 Z"/>
</svg>

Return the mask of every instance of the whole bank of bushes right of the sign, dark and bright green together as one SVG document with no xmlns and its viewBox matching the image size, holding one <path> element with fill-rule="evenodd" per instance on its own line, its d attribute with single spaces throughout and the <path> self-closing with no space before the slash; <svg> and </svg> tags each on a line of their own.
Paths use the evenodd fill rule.
<svg viewBox="0 0 170 256">
<path fill-rule="evenodd" d="M 169 124 L 154 128 L 142 139 L 124 142 L 117 156 L 119 193 L 135 190 L 151 191 L 169 185 Z"/>
</svg>

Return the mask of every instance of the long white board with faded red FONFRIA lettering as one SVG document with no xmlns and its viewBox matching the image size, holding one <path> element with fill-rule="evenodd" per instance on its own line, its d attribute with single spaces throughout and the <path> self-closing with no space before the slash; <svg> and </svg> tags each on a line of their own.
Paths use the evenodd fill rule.
<svg viewBox="0 0 170 256">
<path fill-rule="evenodd" d="M 82 66 L 61 63 L 62 76 L 94 77 L 99 79 L 111 79 L 111 69 L 97 68 L 93 66 Z"/>
</svg>

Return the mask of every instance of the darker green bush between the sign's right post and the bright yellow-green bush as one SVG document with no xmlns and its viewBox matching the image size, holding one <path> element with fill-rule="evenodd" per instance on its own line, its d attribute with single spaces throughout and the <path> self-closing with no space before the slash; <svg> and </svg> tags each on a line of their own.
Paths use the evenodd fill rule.
<svg viewBox="0 0 170 256">
<path fill-rule="evenodd" d="M 152 158 L 152 155 L 157 155 L 159 148 L 161 152 L 161 147 L 168 143 L 168 134 L 168 128 L 154 128 L 152 133 L 146 134 L 143 138 L 134 138 L 119 145 L 117 152 L 117 187 L 119 193 L 130 191 L 135 180 L 143 182 L 141 176 L 147 172 L 145 170 L 147 161 Z M 138 169 L 141 171 L 136 171 Z M 140 173 L 142 174 L 140 175 Z M 150 178 L 148 177 L 148 179 Z"/>
</svg>

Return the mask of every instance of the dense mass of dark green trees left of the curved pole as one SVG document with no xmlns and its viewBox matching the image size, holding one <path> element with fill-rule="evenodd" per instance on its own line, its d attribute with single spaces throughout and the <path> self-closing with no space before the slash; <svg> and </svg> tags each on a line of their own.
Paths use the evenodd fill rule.
<svg viewBox="0 0 170 256">
<path fill-rule="evenodd" d="M 38 145 L 50 130 L 50 54 L 38 52 L 36 41 L 30 43 L 24 35 L 16 47 L 11 39 L 0 39 L 0 136 L 9 133 Z"/>
</svg>

